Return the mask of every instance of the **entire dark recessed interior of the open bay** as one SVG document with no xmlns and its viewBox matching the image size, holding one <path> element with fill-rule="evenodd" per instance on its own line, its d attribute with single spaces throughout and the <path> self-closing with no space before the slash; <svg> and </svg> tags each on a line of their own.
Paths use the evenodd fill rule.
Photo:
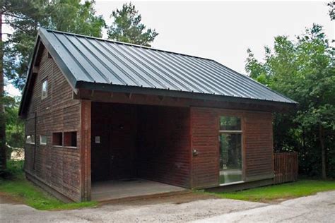
<svg viewBox="0 0 335 223">
<path fill-rule="evenodd" d="M 189 186 L 189 108 L 92 104 L 92 181 L 150 179 Z"/>
</svg>

